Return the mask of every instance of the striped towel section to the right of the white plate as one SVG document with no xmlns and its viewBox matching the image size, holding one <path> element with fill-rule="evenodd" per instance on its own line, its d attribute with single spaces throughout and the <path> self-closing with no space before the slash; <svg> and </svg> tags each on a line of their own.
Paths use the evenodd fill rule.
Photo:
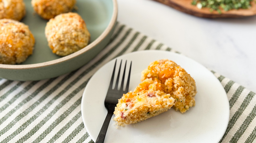
<svg viewBox="0 0 256 143">
<path fill-rule="evenodd" d="M 229 123 L 220 142 L 256 142 L 255 93 L 221 75 L 215 76 L 222 83 L 230 105 Z"/>
</svg>

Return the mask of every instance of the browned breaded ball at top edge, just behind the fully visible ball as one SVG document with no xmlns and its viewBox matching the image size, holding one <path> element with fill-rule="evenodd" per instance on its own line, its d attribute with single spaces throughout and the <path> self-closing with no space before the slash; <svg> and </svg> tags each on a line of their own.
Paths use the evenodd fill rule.
<svg viewBox="0 0 256 143">
<path fill-rule="evenodd" d="M 74 6 L 75 0 L 32 0 L 31 4 L 35 12 L 44 19 L 51 19 L 55 16 L 70 12 Z"/>
</svg>

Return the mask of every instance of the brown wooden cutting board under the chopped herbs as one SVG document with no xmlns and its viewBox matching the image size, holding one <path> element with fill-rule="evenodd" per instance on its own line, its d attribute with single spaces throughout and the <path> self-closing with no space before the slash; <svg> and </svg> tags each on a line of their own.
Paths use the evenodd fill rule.
<svg viewBox="0 0 256 143">
<path fill-rule="evenodd" d="M 240 18 L 256 15 L 256 3 L 255 0 L 251 2 L 252 7 L 249 9 L 233 9 L 229 11 L 222 11 L 222 14 L 219 14 L 217 11 L 210 12 L 209 8 L 199 9 L 195 5 L 192 5 L 192 0 L 154 0 L 180 10 L 182 12 L 195 15 L 198 17 L 204 18 Z"/>
</svg>

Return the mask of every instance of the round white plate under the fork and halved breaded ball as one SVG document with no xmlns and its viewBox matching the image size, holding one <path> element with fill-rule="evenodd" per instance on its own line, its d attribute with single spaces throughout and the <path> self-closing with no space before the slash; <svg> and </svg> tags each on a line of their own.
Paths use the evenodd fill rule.
<svg viewBox="0 0 256 143">
<path fill-rule="evenodd" d="M 165 58 L 175 61 L 196 81 L 198 91 L 195 96 L 196 106 L 191 107 L 184 114 L 170 109 L 153 118 L 118 128 L 113 116 L 105 143 L 218 143 L 220 141 L 228 124 L 229 103 L 221 83 L 201 64 L 180 54 L 150 50 L 119 56 L 117 65 L 121 59 L 132 60 L 130 91 L 140 83 L 141 71 L 147 68 L 150 62 Z M 82 119 L 94 141 L 107 115 L 104 100 L 114 63 L 115 59 L 100 68 L 92 76 L 83 93 Z"/>
</svg>

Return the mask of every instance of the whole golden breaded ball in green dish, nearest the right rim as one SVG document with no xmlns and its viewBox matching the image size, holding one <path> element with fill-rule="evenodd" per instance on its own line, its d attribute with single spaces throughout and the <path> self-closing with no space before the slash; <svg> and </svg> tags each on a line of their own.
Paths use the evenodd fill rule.
<svg viewBox="0 0 256 143">
<path fill-rule="evenodd" d="M 51 19 L 45 27 L 45 35 L 53 53 L 67 56 L 88 45 L 90 33 L 77 13 L 65 13 Z"/>
</svg>

